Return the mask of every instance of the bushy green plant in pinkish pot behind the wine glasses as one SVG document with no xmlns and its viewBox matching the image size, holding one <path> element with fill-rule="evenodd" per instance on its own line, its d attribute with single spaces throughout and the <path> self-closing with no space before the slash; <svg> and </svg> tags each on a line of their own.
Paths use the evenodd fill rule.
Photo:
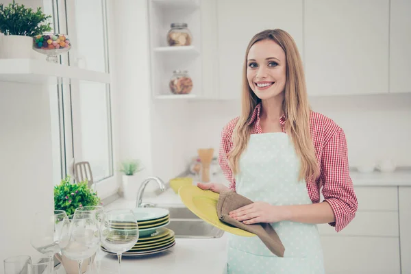
<svg viewBox="0 0 411 274">
<path fill-rule="evenodd" d="M 64 210 L 69 216 L 69 219 L 71 219 L 77 208 L 83 206 L 98 206 L 101 204 L 101 199 L 97 196 L 97 192 L 88 188 L 87 183 L 87 181 L 84 181 L 72 184 L 70 176 L 62 179 L 60 184 L 54 187 L 54 209 Z M 94 256 L 95 254 L 92 258 L 94 258 Z M 55 258 L 63 264 L 66 273 L 78 273 L 78 262 L 76 260 L 70 260 L 59 253 L 55 254 Z M 87 271 L 89 262 L 88 259 L 83 261 L 82 273 Z"/>
</svg>

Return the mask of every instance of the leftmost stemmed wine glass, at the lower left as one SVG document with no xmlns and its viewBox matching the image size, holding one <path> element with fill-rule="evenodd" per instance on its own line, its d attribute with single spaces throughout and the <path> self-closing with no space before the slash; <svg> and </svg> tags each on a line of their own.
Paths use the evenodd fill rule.
<svg viewBox="0 0 411 274">
<path fill-rule="evenodd" d="M 34 249 L 50 257 L 50 264 L 54 262 L 54 254 L 60 251 L 60 236 L 69 225 L 69 217 L 63 210 L 37 212 L 34 216 L 31 244 Z M 50 269 L 53 273 L 53 267 Z"/>
</svg>

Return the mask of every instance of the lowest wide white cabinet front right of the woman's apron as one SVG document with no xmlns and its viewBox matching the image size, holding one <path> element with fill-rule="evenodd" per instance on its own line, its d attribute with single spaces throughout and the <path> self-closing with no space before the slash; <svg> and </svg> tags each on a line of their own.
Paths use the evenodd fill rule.
<svg viewBox="0 0 411 274">
<path fill-rule="evenodd" d="M 398 238 L 321 236 L 321 243 L 327 274 L 400 273 Z"/>
</svg>

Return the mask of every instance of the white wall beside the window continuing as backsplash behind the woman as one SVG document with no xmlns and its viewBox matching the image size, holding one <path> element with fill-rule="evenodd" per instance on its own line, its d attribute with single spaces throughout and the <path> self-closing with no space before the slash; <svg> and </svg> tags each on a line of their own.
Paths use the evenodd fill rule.
<svg viewBox="0 0 411 274">
<path fill-rule="evenodd" d="M 151 99 L 147 6 L 119 2 L 115 39 L 134 27 L 139 32 L 127 38 L 133 50 L 116 51 L 120 159 L 140 158 L 150 167 L 144 176 L 171 179 L 186 169 L 198 148 L 214 147 L 218 154 L 221 129 L 238 115 L 240 102 Z M 345 130 L 350 166 L 384 158 L 411 166 L 411 95 L 312 97 L 310 102 Z"/>
</svg>

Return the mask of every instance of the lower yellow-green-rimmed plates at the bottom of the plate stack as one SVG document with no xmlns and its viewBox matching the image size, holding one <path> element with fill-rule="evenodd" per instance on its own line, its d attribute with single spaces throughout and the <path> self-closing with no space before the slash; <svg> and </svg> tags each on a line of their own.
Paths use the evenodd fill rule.
<svg viewBox="0 0 411 274">
<path fill-rule="evenodd" d="M 175 238 L 173 230 L 162 227 L 157 229 L 157 231 L 149 237 L 139 238 L 136 245 L 129 251 L 125 251 L 123 256 L 147 256 L 166 251 L 174 245 Z M 111 253 L 104 247 L 101 248 L 103 251 Z"/>
</svg>

